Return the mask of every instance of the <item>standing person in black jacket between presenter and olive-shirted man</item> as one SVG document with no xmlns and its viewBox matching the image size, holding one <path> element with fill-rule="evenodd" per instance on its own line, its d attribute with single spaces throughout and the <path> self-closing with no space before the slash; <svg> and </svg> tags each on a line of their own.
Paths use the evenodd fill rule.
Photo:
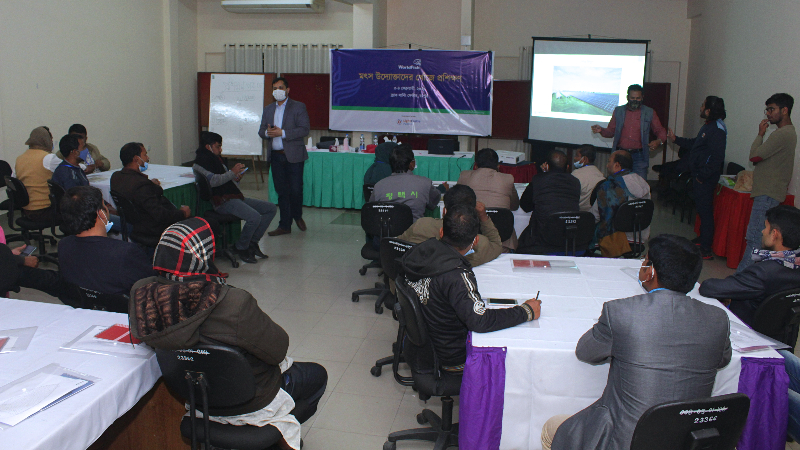
<svg viewBox="0 0 800 450">
<path fill-rule="evenodd" d="M 675 136 L 670 129 L 667 137 L 681 147 L 689 147 L 689 168 L 692 171 L 694 202 L 700 216 L 700 253 L 703 259 L 713 258 L 714 188 L 722 174 L 728 128 L 725 126 L 725 102 L 713 95 L 700 106 L 700 118 L 705 124 L 694 139 Z M 695 241 L 696 242 L 696 241 Z"/>
</svg>

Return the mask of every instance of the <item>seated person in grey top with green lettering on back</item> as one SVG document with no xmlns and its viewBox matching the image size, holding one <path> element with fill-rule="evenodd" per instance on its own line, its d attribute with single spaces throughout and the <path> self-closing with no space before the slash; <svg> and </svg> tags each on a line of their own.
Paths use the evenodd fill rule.
<svg viewBox="0 0 800 450">
<path fill-rule="evenodd" d="M 395 147 L 389 157 L 389 164 L 392 166 L 392 174 L 375 184 L 369 201 L 408 205 L 415 221 L 425 214 L 426 208 L 436 207 L 441 194 L 433 187 L 430 179 L 414 175 L 417 162 L 414 161 L 414 152 L 410 145 Z"/>
</svg>

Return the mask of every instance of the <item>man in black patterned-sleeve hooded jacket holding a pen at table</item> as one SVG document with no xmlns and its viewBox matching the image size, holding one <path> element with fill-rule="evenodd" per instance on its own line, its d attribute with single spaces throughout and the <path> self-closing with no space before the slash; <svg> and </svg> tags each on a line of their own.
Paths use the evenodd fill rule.
<svg viewBox="0 0 800 450">
<path fill-rule="evenodd" d="M 403 255 L 403 273 L 422 305 L 433 349 L 448 372 L 467 360 L 467 332 L 488 333 L 538 319 L 541 302 L 530 299 L 507 309 L 486 309 L 478 282 L 464 257 L 475 246 L 478 212 L 468 205 L 447 210 L 442 238 L 428 239 Z"/>
</svg>

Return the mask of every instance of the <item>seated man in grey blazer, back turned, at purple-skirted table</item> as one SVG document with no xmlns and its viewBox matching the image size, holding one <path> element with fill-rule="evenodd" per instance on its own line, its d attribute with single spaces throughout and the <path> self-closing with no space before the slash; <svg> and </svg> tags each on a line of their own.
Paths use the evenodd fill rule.
<svg viewBox="0 0 800 450">
<path fill-rule="evenodd" d="M 650 241 L 639 270 L 647 293 L 604 303 L 575 349 L 588 364 L 611 363 L 603 396 L 572 417 L 548 420 L 544 449 L 627 449 L 650 407 L 711 396 L 731 343 L 725 311 L 686 295 L 702 268 L 700 249 L 688 239 Z"/>
</svg>

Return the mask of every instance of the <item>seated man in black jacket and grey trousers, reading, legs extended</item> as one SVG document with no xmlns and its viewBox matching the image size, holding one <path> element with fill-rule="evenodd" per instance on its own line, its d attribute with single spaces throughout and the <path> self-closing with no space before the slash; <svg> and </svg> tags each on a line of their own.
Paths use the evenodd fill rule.
<svg viewBox="0 0 800 450">
<path fill-rule="evenodd" d="M 236 242 L 236 253 L 242 261 L 255 264 L 256 256 L 267 258 L 258 243 L 278 212 L 274 203 L 254 198 L 245 198 L 239 190 L 239 181 L 244 175 L 244 164 L 228 169 L 222 158 L 222 136 L 204 131 L 200 134 L 192 169 L 208 179 L 211 184 L 211 203 L 221 214 L 231 214 L 245 221 L 242 233 Z"/>
</svg>

